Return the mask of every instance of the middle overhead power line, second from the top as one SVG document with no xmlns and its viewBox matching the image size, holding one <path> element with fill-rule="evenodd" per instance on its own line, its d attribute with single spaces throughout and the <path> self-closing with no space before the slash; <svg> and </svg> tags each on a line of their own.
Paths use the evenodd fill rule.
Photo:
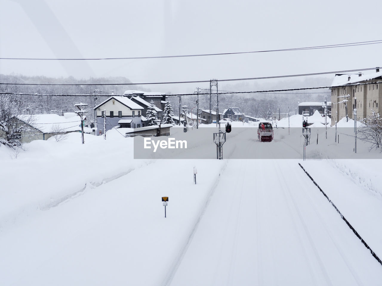
<svg viewBox="0 0 382 286">
<path fill-rule="evenodd" d="M 346 71 L 331 71 L 331 72 L 312 72 L 309 74 L 290 74 L 286 76 L 268 76 L 268 77 L 248 77 L 248 78 L 242 78 L 242 79 L 219 79 L 219 82 L 229 82 L 229 81 L 238 81 L 238 80 L 255 80 L 255 79 L 280 79 L 285 77 L 301 77 L 301 76 L 317 76 L 322 74 L 337 74 L 337 73 L 343 73 L 343 72 L 356 72 L 356 71 L 369 71 L 375 69 L 375 67 L 369 67 L 366 69 L 350 69 Z M 126 83 L 126 84 L 15 84 L 15 83 L 1 83 L 3 85 L 93 85 L 93 86 L 99 86 L 99 85 L 148 85 L 148 84 L 194 84 L 194 83 L 201 83 L 201 82 L 210 82 L 210 80 L 190 80 L 190 81 L 181 81 L 181 82 L 142 82 L 142 83 Z"/>
</svg>

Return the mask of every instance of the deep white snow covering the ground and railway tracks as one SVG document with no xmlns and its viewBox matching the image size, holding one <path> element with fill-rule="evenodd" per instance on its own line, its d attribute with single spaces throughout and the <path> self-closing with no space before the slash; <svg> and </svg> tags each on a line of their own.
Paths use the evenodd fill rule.
<svg viewBox="0 0 382 286">
<path fill-rule="evenodd" d="M 301 116 L 294 121 L 301 128 Z M 355 154 L 353 141 L 338 144 L 333 127 L 328 139 L 323 130 L 307 157 L 327 145 L 329 159 L 308 161 L 277 159 L 301 149 L 285 127 L 270 143 L 256 128 L 253 138 L 235 134 L 242 144 L 227 141 L 221 161 L 133 159 L 134 139 L 117 130 L 107 140 L 87 135 L 84 145 L 71 133 L 18 154 L 0 146 L 1 284 L 380 285 L 382 265 L 298 165 L 381 258 L 381 161 L 355 159 L 380 153 L 360 143 Z M 229 159 L 269 148 L 276 159 Z M 340 151 L 352 159 L 331 159 Z"/>
</svg>

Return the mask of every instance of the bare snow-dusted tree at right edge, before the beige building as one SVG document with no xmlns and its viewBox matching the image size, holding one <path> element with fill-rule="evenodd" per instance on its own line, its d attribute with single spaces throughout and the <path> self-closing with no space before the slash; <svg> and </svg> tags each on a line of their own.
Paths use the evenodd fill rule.
<svg viewBox="0 0 382 286">
<path fill-rule="evenodd" d="M 374 110 L 371 111 L 370 116 L 361 120 L 363 126 L 358 129 L 359 138 L 371 143 L 369 151 L 373 148 L 379 148 L 382 139 L 382 118 L 380 118 L 379 113 Z"/>
</svg>

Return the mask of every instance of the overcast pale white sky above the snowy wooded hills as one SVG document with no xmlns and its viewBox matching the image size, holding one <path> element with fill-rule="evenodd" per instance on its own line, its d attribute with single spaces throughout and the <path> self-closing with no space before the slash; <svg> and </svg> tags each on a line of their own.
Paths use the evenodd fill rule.
<svg viewBox="0 0 382 286">
<path fill-rule="evenodd" d="M 380 40 L 382 1 L 0 0 L 1 58 L 224 53 Z M 0 60 L 0 73 L 132 82 L 230 79 L 382 66 L 382 44 L 102 61 Z M 192 91 L 208 84 L 148 86 Z M 189 90 L 191 89 L 191 90 Z"/>
</svg>

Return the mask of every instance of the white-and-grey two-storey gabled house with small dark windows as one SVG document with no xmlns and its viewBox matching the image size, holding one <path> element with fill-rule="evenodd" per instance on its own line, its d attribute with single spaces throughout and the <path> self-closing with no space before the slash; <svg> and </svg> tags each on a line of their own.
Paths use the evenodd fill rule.
<svg viewBox="0 0 382 286">
<path fill-rule="evenodd" d="M 103 134 L 104 116 L 106 117 L 106 131 L 113 127 L 139 128 L 145 125 L 142 121 L 142 111 L 144 108 L 128 99 L 126 96 L 111 96 L 107 100 L 95 106 L 97 113 L 97 135 Z M 118 123 L 119 122 L 119 123 Z"/>
</svg>

